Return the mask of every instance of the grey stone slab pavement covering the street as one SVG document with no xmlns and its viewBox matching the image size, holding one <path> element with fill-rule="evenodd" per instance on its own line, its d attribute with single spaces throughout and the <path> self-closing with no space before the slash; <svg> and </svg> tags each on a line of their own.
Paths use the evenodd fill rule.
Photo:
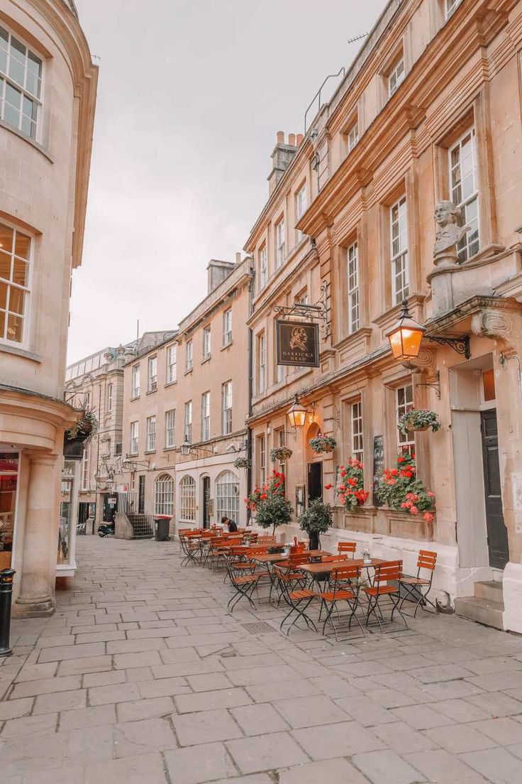
<svg viewBox="0 0 522 784">
<path fill-rule="evenodd" d="M 268 604 L 228 615 L 223 575 L 177 543 L 82 537 L 77 557 L 0 659 L 2 784 L 522 782 L 520 637 L 423 614 L 286 639 Z"/>
</svg>

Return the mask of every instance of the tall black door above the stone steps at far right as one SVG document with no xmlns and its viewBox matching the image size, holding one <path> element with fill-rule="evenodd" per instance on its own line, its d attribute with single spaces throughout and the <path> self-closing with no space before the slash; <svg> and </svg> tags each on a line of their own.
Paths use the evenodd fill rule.
<svg viewBox="0 0 522 784">
<path fill-rule="evenodd" d="M 509 561 L 509 544 L 504 515 L 502 514 L 499 434 L 497 430 L 497 414 L 494 408 L 481 413 L 481 430 L 489 565 L 495 569 L 503 569 Z"/>
</svg>

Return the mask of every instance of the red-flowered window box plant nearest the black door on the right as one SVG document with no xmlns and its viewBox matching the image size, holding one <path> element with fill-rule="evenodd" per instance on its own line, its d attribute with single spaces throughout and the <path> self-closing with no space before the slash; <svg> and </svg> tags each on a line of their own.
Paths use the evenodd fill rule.
<svg viewBox="0 0 522 784">
<path fill-rule="evenodd" d="M 390 509 L 412 515 L 424 513 L 427 523 L 434 521 L 435 494 L 417 479 L 415 455 L 399 455 L 396 468 L 384 469 L 377 481 L 377 494 Z"/>
</svg>

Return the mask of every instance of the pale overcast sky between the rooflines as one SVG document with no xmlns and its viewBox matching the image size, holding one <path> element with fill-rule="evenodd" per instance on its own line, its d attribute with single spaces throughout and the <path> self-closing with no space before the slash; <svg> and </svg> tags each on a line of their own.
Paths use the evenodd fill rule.
<svg viewBox="0 0 522 784">
<path fill-rule="evenodd" d="M 99 58 L 69 361 L 175 328 L 211 258 L 235 260 L 268 197 L 278 130 L 386 0 L 76 0 Z"/>
</svg>

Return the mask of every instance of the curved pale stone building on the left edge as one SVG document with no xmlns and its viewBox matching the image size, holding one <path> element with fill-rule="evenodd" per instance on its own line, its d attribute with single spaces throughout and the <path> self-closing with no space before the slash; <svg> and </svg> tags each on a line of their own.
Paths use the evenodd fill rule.
<svg viewBox="0 0 522 784">
<path fill-rule="evenodd" d="M 74 2 L 0 9 L 0 567 L 15 615 L 53 611 L 71 273 L 81 264 L 97 68 Z"/>
</svg>

